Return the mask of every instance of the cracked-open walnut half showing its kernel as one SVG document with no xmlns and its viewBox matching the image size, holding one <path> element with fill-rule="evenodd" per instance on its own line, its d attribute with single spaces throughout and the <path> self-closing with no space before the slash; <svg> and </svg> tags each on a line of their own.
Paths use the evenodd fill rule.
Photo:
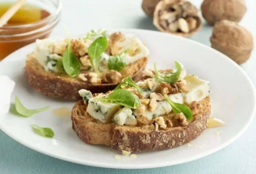
<svg viewBox="0 0 256 174">
<path fill-rule="evenodd" d="M 190 37 L 202 27 L 198 10 L 184 0 L 162 0 L 155 10 L 153 24 L 160 31 Z"/>
</svg>

